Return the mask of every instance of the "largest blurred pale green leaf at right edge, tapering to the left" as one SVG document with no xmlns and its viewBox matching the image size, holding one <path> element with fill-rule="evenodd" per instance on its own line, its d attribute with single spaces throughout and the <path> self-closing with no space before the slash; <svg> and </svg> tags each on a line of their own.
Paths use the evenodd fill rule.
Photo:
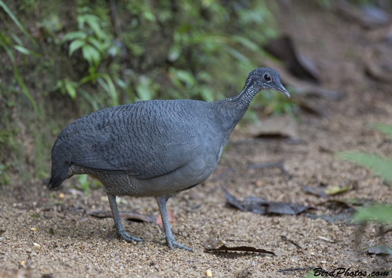
<svg viewBox="0 0 392 278">
<path fill-rule="evenodd" d="M 391 159 L 376 154 L 368 154 L 358 151 L 345 151 L 338 154 L 338 156 L 362 167 L 368 168 L 392 185 Z"/>
</svg>

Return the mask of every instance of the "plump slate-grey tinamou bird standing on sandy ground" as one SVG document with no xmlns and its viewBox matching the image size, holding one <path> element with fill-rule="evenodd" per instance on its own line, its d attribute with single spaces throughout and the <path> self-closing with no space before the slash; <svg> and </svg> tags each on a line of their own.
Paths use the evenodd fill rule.
<svg viewBox="0 0 392 278">
<path fill-rule="evenodd" d="M 148 100 L 108 107 L 85 115 L 65 128 L 51 150 L 49 190 L 76 174 L 98 179 L 106 192 L 116 232 L 128 235 L 116 196 L 155 197 L 166 239 L 174 240 L 166 203 L 170 197 L 204 182 L 216 168 L 223 147 L 261 90 L 290 97 L 277 70 L 260 67 L 248 75 L 235 97 L 216 102 Z"/>
</svg>

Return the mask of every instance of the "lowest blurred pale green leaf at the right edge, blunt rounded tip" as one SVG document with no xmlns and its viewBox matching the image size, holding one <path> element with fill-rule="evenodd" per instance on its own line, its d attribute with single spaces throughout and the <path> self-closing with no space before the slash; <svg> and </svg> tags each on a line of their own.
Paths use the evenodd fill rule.
<svg viewBox="0 0 392 278">
<path fill-rule="evenodd" d="M 374 221 L 378 223 L 392 223 L 392 206 L 378 205 L 364 208 L 352 216 L 352 220 L 357 223 Z"/>
</svg>

